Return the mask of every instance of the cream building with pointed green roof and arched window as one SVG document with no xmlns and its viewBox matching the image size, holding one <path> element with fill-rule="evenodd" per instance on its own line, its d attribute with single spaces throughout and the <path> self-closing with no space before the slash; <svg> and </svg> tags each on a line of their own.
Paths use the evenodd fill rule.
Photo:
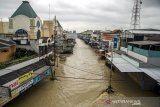
<svg viewBox="0 0 160 107">
<path fill-rule="evenodd" d="M 38 50 L 38 39 L 41 37 L 42 22 L 28 1 L 23 1 L 9 18 L 9 33 L 17 45 L 30 45 Z"/>
</svg>

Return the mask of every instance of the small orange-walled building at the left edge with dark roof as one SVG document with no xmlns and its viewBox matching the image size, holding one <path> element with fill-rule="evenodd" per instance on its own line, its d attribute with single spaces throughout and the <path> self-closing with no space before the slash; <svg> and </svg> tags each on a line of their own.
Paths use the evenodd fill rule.
<svg viewBox="0 0 160 107">
<path fill-rule="evenodd" d="M 12 59 L 16 52 L 16 43 L 11 40 L 0 39 L 0 62 L 6 62 Z"/>
</svg>

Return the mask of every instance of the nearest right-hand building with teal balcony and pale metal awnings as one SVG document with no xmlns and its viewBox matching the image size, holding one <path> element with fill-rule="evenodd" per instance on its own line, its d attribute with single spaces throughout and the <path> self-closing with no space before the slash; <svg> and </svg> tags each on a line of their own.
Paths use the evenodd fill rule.
<svg viewBox="0 0 160 107">
<path fill-rule="evenodd" d="M 125 52 L 124 52 L 125 51 Z M 160 91 L 160 42 L 128 42 L 127 50 L 115 51 L 113 60 L 106 56 L 114 69 L 129 75 L 144 90 Z"/>
</svg>

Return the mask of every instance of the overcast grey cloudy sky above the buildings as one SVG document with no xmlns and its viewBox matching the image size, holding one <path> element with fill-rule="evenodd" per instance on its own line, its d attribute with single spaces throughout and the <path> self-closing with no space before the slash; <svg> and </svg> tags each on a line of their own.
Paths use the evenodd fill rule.
<svg viewBox="0 0 160 107">
<path fill-rule="evenodd" d="M 39 17 L 56 14 L 66 30 L 129 29 L 133 0 L 28 0 Z M 22 0 L 0 0 L 0 18 L 8 20 Z M 160 0 L 143 0 L 141 28 L 160 29 Z"/>
</svg>

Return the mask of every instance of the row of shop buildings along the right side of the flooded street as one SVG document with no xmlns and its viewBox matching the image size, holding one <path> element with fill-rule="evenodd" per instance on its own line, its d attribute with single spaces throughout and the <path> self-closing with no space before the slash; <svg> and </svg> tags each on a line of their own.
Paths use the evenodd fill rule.
<svg viewBox="0 0 160 107">
<path fill-rule="evenodd" d="M 131 77 L 143 90 L 160 93 L 160 30 L 88 30 L 78 37 L 96 48 L 108 66 Z"/>
</svg>

